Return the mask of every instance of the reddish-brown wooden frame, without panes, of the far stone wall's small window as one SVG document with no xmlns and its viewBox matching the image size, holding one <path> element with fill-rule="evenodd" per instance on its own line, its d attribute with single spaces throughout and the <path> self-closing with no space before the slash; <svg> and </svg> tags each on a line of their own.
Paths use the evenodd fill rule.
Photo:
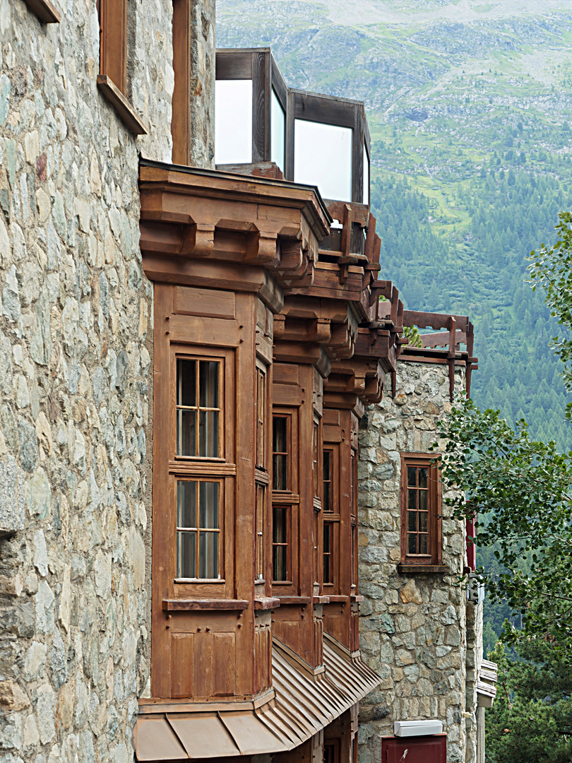
<svg viewBox="0 0 572 763">
<path fill-rule="evenodd" d="M 432 453 L 401 454 L 401 564 L 427 566 L 442 564 L 442 486 L 439 478 L 438 456 Z M 428 470 L 428 553 L 407 552 L 407 467 Z"/>
</svg>

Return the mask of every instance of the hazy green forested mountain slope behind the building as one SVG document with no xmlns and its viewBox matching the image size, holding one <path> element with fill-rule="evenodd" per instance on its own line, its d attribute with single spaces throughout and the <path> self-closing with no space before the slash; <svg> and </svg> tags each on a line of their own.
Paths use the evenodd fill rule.
<svg viewBox="0 0 572 763">
<path fill-rule="evenodd" d="M 382 275 L 471 315 L 477 404 L 572 448 L 525 257 L 570 207 L 572 8 L 558 0 L 218 0 L 219 47 L 272 47 L 292 86 L 368 108 Z"/>
</svg>

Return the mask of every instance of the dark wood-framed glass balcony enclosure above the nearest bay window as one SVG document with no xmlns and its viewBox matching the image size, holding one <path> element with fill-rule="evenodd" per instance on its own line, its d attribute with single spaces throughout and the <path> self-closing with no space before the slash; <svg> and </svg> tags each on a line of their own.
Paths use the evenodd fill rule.
<svg viewBox="0 0 572 763">
<path fill-rule="evenodd" d="M 327 201 L 369 204 L 369 130 L 361 101 L 288 89 L 268 48 L 217 51 L 215 161 L 317 185 Z M 243 166 L 243 169 L 239 169 Z"/>
</svg>

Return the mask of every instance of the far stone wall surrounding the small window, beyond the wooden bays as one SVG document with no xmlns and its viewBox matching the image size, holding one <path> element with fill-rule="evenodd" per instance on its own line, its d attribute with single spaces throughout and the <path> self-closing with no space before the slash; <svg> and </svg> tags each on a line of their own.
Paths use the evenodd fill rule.
<svg viewBox="0 0 572 763">
<path fill-rule="evenodd" d="M 455 387 L 464 386 L 464 369 Z M 466 564 L 464 527 L 443 512 L 443 564 L 451 575 L 400 575 L 400 455 L 428 452 L 436 424 L 450 407 L 448 366 L 399 361 L 397 392 L 368 408 L 360 422 L 360 647 L 381 676 L 377 693 L 360 703 L 359 760 L 381 760 L 381 736 L 394 720 L 439 719 L 448 734 L 449 763 L 474 760 L 474 691 L 465 692 L 468 618 L 474 651 L 474 607 L 455 587 Z M 366 428 L 367 427 L 367 428 Z M 445 497 L 445 496 L 444 496 Z M 474 655 L 472 658 L 474 665 Z M 471 662 L 469 660 L 468 662 Z M 473 752 L 471 752 L 471 749 Z"/>
</svg>

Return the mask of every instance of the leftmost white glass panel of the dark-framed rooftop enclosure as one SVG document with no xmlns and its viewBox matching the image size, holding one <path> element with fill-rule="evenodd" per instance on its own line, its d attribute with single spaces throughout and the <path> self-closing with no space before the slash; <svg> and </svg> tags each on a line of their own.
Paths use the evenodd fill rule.
<svg viewBox="0 0 572 763">
<path fill-rule="evenodd" d="M 215 163 L 251 163 L 252 79 L 217 79 L 214 98 Z"/>
</svg>

